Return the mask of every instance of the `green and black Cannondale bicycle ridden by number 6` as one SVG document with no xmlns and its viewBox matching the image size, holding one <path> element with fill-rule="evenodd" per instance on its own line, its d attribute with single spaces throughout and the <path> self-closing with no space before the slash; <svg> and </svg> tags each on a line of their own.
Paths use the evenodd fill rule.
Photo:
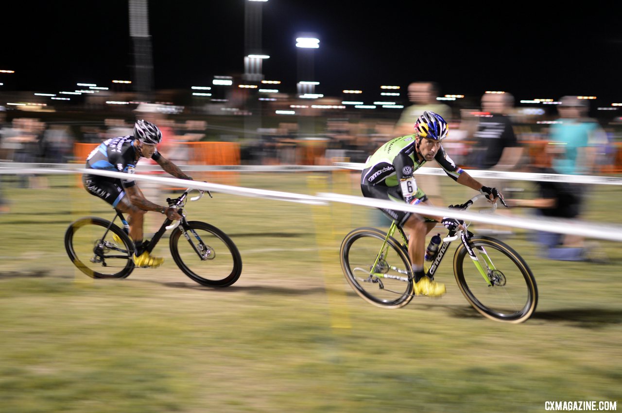
<svg viewBox="0 0 622 413">
<path fill-rule="evenodd" d="M 467 201 L 464 210 L 481 197 L 484 195 L 478 194 Z M 480 212 L 494 209 L 496 204 Z M 396 231 L 402 243 L 393 237 Z M 467 233 L 449 231 L 426 275 L 434 279 L 450 243 L 460 238 L 453 254 L 453 274 L 466 301 L 493 320 L 520 323 L 529 319 L 536 310 L 538 290 L 525 260 L 504 242 L 478 235 L 468 237 Z M 408 238 L 396 222 L 388 232 L 367 227 L 351 231 L 341 242 L 340 259 L 350 286 L 371 304 L 399 308 L 414 297 Z"/>
</svg>

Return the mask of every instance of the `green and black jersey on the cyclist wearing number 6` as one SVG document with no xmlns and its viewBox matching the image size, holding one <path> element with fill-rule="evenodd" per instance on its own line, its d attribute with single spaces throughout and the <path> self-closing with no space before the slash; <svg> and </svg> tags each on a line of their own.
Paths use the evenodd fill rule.
<svg viewBox="0 0 622 413">
<path fill-rule="evenodd" d="M 381 146 L 365 163 L 361 173 L 361 185 L 399 186 L 400 179 L 411 178 L 414 171 L 424 165 L 425 160 L 418 160 L 416 155 L 416 135 L 397 137 Z M 445 173 L 457 181 L 462 169 L 452 158 L 447 156 L 441 146 L 434 160 Z"/>
</svg>

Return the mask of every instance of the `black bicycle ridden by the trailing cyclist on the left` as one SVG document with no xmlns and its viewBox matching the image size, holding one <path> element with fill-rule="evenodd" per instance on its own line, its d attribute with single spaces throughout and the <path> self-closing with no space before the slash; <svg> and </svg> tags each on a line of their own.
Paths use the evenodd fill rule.
<svg viewBox="0 0 622 413">
<path fill-rule="evenodd" d="M 206 222 L 188 221 L 185 216 L 186 189 L 180 197 L 167 198 L 181 220 L 165 219 L 156 234 L 146 242 L 146 251 L 152 252 L 166 230 L 170 254 L 175 264 L 188 277 L 210 287 L 228 287 L 238 281 L 242 272 L 242 258 L 238 247 L 220 229 Z M 190 198 L 198 201 L 203 196 Z M 211 194 L 210 194 L 211 197 Z M 114 224 L 119 218 L 123 229 Z M 134 243 L 128 236 L 129 225 L 121 212 L 116 211 L 112 221 L 99 217 L 85 217 L 72 222 L 65 232 L 65 249 L 77 268 L 93 278 L 126 278 L 134 271 Z"/>
</svg>

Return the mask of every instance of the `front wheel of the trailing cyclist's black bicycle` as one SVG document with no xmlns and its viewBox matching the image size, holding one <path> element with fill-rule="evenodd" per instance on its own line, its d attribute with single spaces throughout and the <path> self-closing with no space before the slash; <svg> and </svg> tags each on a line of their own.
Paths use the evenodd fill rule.
<svg viewBox="0 0 622 413">
<path fill-rule="evenodd" d="M 238 247 L 228 235 L 213 225 L 200 221 L 188 221 L 188 243 L 180 243 L 182 225 L 170 234 L 170 253 L 180 270 L 193 281 L 209 287 L 228 287 L 238 281 L 242 273 L 242 257 Z M 194 232 L 194 234 L 191 233 Z M 207 249 L 202 259 L 192 245 L 197 236 Z M 194 238 L 194 240 L 193 240 Z M 218 257 L 218 260 L 215 258 Z"/>
</svg>

